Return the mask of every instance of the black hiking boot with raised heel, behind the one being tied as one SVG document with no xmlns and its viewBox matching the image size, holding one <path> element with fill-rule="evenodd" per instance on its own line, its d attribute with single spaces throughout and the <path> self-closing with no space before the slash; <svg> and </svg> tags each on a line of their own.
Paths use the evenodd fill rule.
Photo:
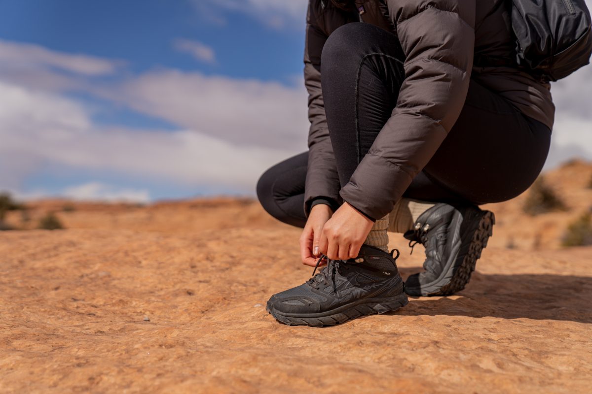
<svg viewBox="0 0 592 394">
<path fill-rule="evenodd" d="M 464 289 L 495 223 L 493 212 L 476 206 L 439 203 L 422 213 L 415 228 L 404 237 L 410 240 L 411 248 L 415 246 L 411 242 L 425 246 L 426 272 L 409 276 L 405 292 L 416 296 L 450 295 Z"/>
</svg>

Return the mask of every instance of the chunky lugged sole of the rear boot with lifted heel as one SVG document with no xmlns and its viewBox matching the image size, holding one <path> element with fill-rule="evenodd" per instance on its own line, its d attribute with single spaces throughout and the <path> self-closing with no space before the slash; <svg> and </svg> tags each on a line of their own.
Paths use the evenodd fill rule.
<svg viewBox="0 0 592 394">
<path fill-rule="evenodd" d="M 462 262 L 452 266 L 443 272 L 437 281 L 417 288 L 405 288 L 408 295 L 430 297 L 435 295 L 451 295 L 461 291 L 471 280 L 471 274 L 475 271 L 477 260 L 481 258 L 481 252 L 487 246 L 489 237 L 493 235 L 493 225 L 496 224 L 496 216 L 491 211 L 483 211 L 481 219 L 474 230 L 474 234 Z M 452 271 L 452 273 L 451 273 Z"/>
</svg>

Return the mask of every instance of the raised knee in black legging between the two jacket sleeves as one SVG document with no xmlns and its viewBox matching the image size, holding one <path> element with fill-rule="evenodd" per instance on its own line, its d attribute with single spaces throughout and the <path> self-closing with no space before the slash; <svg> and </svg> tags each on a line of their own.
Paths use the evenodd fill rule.
<svg viewBox="0 0 592 394">
<path fill-rule="evenodd" d="M 343 25 L 323 47 L 321 86 L 342 187 L 397 104 L 403 60 L 396 35 L 365 23 Z"/>
</svg>

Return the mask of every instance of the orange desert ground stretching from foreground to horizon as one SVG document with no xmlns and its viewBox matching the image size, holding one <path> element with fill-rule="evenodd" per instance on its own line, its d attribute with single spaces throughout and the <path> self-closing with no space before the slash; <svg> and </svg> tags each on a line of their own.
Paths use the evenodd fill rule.
<svg viewBox="0 0 592 394">
<path fill-rule="evenodd" d="M 0 232 L 0 392 L 590 392 L 592 247 L 559 240 L 592 165 L 547 178 L 570 209 L 486 206 L 498 224 L 464 291 L 328 328 L 265 311 L 312 269 L 256 201 L 31 204 L 8 216 L 27 230 Z M 50 210 L 66 229 L 33 229 Z M 422 269 L 420 245 L 391 246 L 404 278 Z"/>
</svg>

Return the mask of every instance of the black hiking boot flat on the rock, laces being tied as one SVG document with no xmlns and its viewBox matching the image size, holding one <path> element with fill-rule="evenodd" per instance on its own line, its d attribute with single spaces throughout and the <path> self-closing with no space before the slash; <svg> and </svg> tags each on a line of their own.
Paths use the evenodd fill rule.
<svg viewBox="0 0 592 394">
<path fill-rule="evenodd" d="M 327 259 L 327 266 L 303 285 L 272 295 L 267 311 L 287 325 L 323 327 L 407 305 L 403 280 L 391 253 L 362 245 L 357 258 Z"/>
</svg>

